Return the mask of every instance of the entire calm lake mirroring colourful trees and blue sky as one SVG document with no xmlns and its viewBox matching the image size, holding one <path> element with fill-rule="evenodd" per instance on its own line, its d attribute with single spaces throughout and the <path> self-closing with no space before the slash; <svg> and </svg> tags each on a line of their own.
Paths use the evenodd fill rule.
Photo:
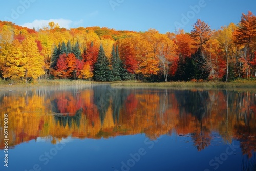
<svg viewBox="0 0 256 171">
<path fill-rule="evenodd" d="M 255 92 L 0 91 L 0 170 L 256 170 Z"/>
</svg>

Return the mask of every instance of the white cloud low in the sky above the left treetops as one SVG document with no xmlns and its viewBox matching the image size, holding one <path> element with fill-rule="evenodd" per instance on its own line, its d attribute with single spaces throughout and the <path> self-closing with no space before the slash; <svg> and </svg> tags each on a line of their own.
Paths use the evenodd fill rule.
<svg viewBox="0 0 256 171">
<path fill-rule="evenodd" d="M 35 29 L 39 29 L 39 28 L 43 28 L 45 26 L 48 26 L 49 22 L 54 22 L 54 23 L 58 23 L 58 25 L 61 28 L 66 28 L 69 29 L 72 25 L 81 25 L 81 23 L 83 22 L 83 20 L 80 21 L 71 21 L 69 19 L 49 19 L 49 20 L 34 20 L 33 22 L 28 22 L 28 23 L 24 23 L 22 26 L 23 27 L 28 27 L 28 28 L 33 28 L 35 27 Z"/>
</svg>

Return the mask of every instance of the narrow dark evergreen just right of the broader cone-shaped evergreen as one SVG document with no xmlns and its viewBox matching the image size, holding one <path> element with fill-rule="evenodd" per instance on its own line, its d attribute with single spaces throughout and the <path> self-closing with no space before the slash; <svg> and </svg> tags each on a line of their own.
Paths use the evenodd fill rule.
<svg viewBox="0 0 256 171">
<path fill-rule="evenodd" d="M 118 51 L 118 48 L 117 48 Z M 115 47 L 113 45 L 112 52 L 111 52 L 111 62 L 112 62 L 112 74 L 113 74 L 113 81 L 120 81 L 120 61 L 119 61 L 118 52 L 115 51 Z"/>
</svg>

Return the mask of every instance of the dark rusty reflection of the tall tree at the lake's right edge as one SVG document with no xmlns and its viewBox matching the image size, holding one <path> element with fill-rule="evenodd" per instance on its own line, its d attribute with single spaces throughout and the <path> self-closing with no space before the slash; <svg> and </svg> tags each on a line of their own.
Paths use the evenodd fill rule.
<svg viewBox="0 0 256 171">
<path fill-rule="evenodd" d="M 248 154 L 250 158 L 256 149 L 256 95 L 248 91 L 231 91 L 229 94 L 233 97 L 232 102 L 229 103 L 230 110 L 236 117 L 233 123 L 233 134 L 240 142 L 242 153 Z"/>
</svg>

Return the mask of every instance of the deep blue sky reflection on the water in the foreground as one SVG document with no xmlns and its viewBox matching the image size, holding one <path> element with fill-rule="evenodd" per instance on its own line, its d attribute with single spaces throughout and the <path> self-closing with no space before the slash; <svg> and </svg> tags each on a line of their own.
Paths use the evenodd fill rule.
<svg viewBox="0 0 256 171">
<path fill-rule="evenodd" d="M 239 142 L 233 141 L 233 151 L 220 140 L 214 138 L 214 143 L 200 152 L 193 148 L 189 135 L 175 134 L 156 140 L 145 134 L 96 140 L 66 138 L 55 145 L 31 140 L 9 150 L 4 170 L 241 170 Z M 227 148 L 233 154 L 225 155 Z M 211 166 L 209 162 L 215 157 L 220 160 Z"/>
</svg>

